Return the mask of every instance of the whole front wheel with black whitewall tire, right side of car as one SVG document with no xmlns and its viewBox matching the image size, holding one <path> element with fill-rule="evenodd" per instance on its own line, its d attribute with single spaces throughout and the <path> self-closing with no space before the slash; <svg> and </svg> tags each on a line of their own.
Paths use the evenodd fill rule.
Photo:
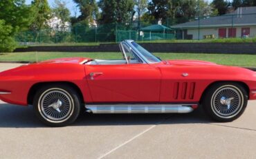
<svg viewBox="0 0 256 159">
<path fill-rule="evenodd" d="M 232 82 L 214 84 L 203 97 L 203 109 L 217 122 L 232 122 L 245 111 L 248 95 L 243 86 Z"/>
</svg>

